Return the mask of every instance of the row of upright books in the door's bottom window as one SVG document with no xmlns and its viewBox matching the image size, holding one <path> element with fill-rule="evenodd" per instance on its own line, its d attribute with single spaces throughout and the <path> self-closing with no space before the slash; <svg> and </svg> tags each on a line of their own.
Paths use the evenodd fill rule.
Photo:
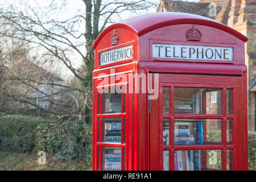
<svg viewBox="0 0 256 182">
<path fill-rule="evenodd" d="M 175 171 L 201 171 L 201 150 L 178 150 L 174 152 Z"/>
</svg>

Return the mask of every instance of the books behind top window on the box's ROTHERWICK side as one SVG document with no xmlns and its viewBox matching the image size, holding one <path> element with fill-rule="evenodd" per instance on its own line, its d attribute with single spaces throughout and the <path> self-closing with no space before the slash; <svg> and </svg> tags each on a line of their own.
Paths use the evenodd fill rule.
<svg viewBox="0 0 256 182">
<path fill-rule="evenodd" d="M 121 94 L 108 94 L 105 98 L 105 113 L 121 113 Z"/>
</svg>

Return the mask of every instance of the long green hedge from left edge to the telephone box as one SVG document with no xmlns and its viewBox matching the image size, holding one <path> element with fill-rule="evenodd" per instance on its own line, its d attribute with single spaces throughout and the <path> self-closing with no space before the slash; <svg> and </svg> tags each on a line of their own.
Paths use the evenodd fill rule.
<svg viewBox="0 0 256 182">
<path fill-rule="evenodd" d="M 53 122 L 38 117 L 0 117 L 0 149 L 45 151 L 55 159 L 92 159 L 92 127 L 78 120 Z"/>
</svg>

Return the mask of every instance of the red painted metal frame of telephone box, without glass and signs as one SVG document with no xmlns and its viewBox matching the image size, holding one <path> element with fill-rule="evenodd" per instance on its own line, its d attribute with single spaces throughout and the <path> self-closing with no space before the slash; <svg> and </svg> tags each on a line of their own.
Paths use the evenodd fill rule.
<svg viewBox="0 0 256 182">
<path fill-rule="evenodd" d="M 192 24 L 196 25 L 202 34 L 203 38 L 201 42 L 187 42 L 182 32 L 187 31 L 192 27 Z M 119 36 L 119 43 L 117 46 L 112 46 L 111 37 L 113 31 L 116 31 Z M 193 115 L 193 118 L 220 118 L 222 117 L 222 145 L 208 145 L 208 146 L 174 146 L 171 148 L 170 161 L 174 161 L 174 150 L 188 150 L 188 149 L 222 149 L 222 156 L 226 156 L 226 149 L 234 149 L 233 151 L 233 166 L 237 170 L 247 170 L 247 68 L 245 65 L 245 49 L 244 43 L 247 41 L 246 36 L 240 34 L 236 30 L 218 23 L 212 19 L 204 18 L 202 16 L 183 14 L 183 13 L 157 13 L 142 15 L 132 19 L 127 19 L 121 23 L 115 23 L 107 27 L 98 36 L 93 44 L 95 49 L 95 61 L 93 71 L 93 170 L 101 169 L 99 162 L 101 162 L 102 146 L 116 146 L 126 148 L 126 168 L 127 170 L 159 170 L 162 168 L 162 162 L 159 158 L 162 158 L 163 148 L 160 146 L 161 138 L 159 135 L 156 137 L 154 134 L 160 132 L 160 124 L 152 121 L 159 121 L 159 110 L 162 107 L 161 96 L 163 94 L 162 87 L 160 87 L 159 96 L 157 100 L 151 100 L 151 114 L 149 114 L 148 93 L 135 93 L 138 88 L 141 90 L 142 85 L 138 85 L 138 77 L 133 77 L 134 74 L 146 74 L 147 73 L 168 73 L 168 78 L 172 78 L 179 74 L 181 81 L 179 83 L 166 81 L 161 83 L 170 85 L 170 96 L 174 98 L 174 84 L 176 86 L 215 86 L 216 88 L 222 88 L 222 111 L 225 113 L 225 94 L 226 89 L 234 89 L 233 116 L 230 115 L 206 115 L 198 114 Z M 151 45 L 152 43 L 175 43 L 175 44 L 187 44 L 187 45 L 200 45 L 200 46 L 220 46 L 220 47 L 233 47 L 233 59 L 234 61 L 207 61 L 203 60 L 177 60 L 177 59 L 152 59 Z M 120 61 L 109 65 L 99 64 L 99 53 L 108 51 L 110 49 L 122 47 L 123 45 L 129 45 L 133 43 L 133 59 Z M 111 69 L 114 69 L 113 74 Z M 102 74 L 105 76 L 102 76 Z M 99 81 L 98 78 L 110 77 L 110 75 L 126 75 L 126 82 L 116 81 L 109 86 L 115 86 L 123 84 L 131 88 L 133 93 L 126 94 L 126 113 L 116 114 L 116 117 L 126 117 L 126 144 L 116 143 L 104 143 L 97 142 L 98 132 L 102 133 L 102 128 L 97 126 L 98 118 L 112 117 L 113 114 L 97 114 L 98 93 L 97 89 Z M 189 75 L 189 76 L 185 76 Z M 198 76 L 198 80 L 192 79 L 193 76 Z M 208 78 L 214 77 L 215 82 L 210 83 Z M 241 78 L 240 81 L 230 84 L 218 81 L 217 78 L 230 77 L 230 81 Z M 232 78 L 234 78 L 232 80 Z M 129 84 L 127 84 L 129 82 Z M 186 85 L 180 84 L 181 82 L 187 82 Z M 208 83 L 208 84 L 207 84 Z M 148 83 L 146 83 L 148 84 Z M 130 90 L 130 89 L 129 89 Z M 174 105 L 174 101 L 171 101 L 171 105 Z M 102 98 L 100 97 L 100 103 L 102 104 Z M 237 104 L 239 103 L 239 105 Z M 160 104 L 160 105 L 159 105 Z M 153 107 L 152 107 L 153 106 Z M 155 113 L 157 112 L 157 113 Z M 102 113 L 102 112 L 101 112 Z M 154 114 L 155 113 L 155 114 Z M 172 110 L 173 114 L 173 110 Z M 174 114 L 164 115 L 164 117 L 170 118 L 171 123 L 174 123 L 175 117 L 191 118 L 188 114 Z M 161 116 L 163 117 L 163 116 Z M 226 133 L 224 131 L 226 127 L 226 119 L 233 119 L 233 145 L 226 145 Z M 161 121 L 162 122 L 162 121 Z M 98 131 L 98 128 L 100 131 Z M 236 131 L 234 130 L 236 129 Z M 171 131 L 174 130 L 174 125 L 170 126 L 170 142 L 174 143 L 174 136 L 171 135 Z M 153 134 L 153 135 L 152 135 Z M 101 137 L 101 136 L 100 136 Z M 97 148 L 100 147 L 100 151 Z M 168 147 L 167 147 L 168 149 Z M 226 169 L 226 159 L 222 159 L 222 169 Z M 174 170 L 174 166 L 170 165 L 170 169 Z"/>
</svg>

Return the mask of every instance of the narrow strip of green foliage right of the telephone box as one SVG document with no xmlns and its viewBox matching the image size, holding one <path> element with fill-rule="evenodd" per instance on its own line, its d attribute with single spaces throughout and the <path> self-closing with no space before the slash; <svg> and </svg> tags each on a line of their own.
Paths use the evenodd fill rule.
<svg viewBox="0 0 256 182">
<path fill-rule="evenodd" d="M 250 171 L 256 170 L 256 133 L 248 136 L 248 166 Z"/>
</svg>

